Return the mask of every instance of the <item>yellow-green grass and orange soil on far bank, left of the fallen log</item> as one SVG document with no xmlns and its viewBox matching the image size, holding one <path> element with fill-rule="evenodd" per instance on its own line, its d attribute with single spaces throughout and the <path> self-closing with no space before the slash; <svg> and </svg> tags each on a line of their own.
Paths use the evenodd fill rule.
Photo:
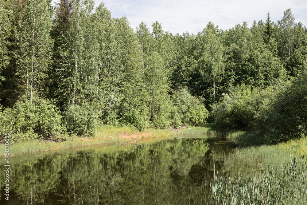
<svg viewBox="0 0 307 205">
<path fill-rule="evenodd" d="M 175 135 L 177 132 L 168 129 L 148 128 L 143 132 L 137 132 L 130 127 L 115 127 L 102 125 L 98 128 L 95 136 L 77 137 L 71 136 L 66 141 L 54 142 L 46 140 L 26 140 L 20 143 L 10 144 L 10 156 L 20 156 L 46 152 L 50 150 L 64 150 L 71 148 L 90 147 L 98 144 L 127 145 L 137 141 L 145 141 L 157 137 Z M 134 135 L 130 138 L 130 135 Z M 121 138 L 127 136 L 126 138 Z M 0 145 L 0 159 L 4 157 L 5 146 Z"/>
</svg>

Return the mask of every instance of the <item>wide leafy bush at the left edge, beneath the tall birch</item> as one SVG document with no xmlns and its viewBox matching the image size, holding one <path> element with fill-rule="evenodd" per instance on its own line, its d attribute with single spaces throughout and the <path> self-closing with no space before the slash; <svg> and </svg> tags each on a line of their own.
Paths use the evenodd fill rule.
<svg viewBox="0 0 307 205">
<path fill-rule="evenodd" d="M 59 140 L 65 137 L 66 129 L 60 112 L 49 101 L 40 99 L 35 103 L 18 101 L 14 108 L 2 109 L 1 133 L 9 132 L 12 141 L 29 138 Z"/>
</svg>

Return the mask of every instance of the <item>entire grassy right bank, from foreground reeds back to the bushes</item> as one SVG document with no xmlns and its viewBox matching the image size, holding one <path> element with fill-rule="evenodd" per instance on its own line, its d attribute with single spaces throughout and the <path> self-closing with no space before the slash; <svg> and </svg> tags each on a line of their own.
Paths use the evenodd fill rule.
<svg viewBox="0 0 307 205">
<path fill-rule="evenodd" d="M 259 145 L 255 133 L 225 134 L 239 147 L 224 158 L 224 170 L 209 179 L 201 198 L 210 204 L 307 204 L 307 139 Z M 297 160 L 301 159 L 301 160 Z M 306 158 L 305 158 L 306 159 Z"/>
</svg>

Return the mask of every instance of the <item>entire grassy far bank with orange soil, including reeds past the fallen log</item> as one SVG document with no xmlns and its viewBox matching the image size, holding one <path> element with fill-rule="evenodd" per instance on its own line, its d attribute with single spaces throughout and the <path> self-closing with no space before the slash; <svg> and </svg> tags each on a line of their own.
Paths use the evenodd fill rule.
<svg viewBox="0 0 307 205">
<path fill-rule="evenodd" d="M 149 140 L 179 136 L 179 135 L 216 135 L 222 132 L 215 126 L 207 124 L 204 127 L 190 127 L 192 129 L 180 128 L 174 131 L 172 128 L 159 129 L 148 128 L 139 132 L 131 127 L 115 127 L 101 125 L 94 136 L 70 136 L 65 141 L 27 139 L 21 142 L 10 144 L 11 156 L 33 155 L 39 152 L 51 150 L 66 150 L 85 148 L 95 145 L 127 145 L 143 143 Z M 0 145 L 0 159 L 4 157 L 4 144 Z"/>
</svg>

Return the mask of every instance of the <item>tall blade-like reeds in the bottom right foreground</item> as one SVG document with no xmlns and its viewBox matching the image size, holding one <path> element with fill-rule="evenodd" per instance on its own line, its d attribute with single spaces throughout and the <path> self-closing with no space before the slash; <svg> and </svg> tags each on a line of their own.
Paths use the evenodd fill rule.
<svg viewBox="0 0 307 205">
<path fill-rule="evenodd" d="M 306 204 L 306 163 L 294 157 L 282 171 L 266 166 L 255 175 L 219 175 L 202 197 L 211 204 Z"/>
</svg>

